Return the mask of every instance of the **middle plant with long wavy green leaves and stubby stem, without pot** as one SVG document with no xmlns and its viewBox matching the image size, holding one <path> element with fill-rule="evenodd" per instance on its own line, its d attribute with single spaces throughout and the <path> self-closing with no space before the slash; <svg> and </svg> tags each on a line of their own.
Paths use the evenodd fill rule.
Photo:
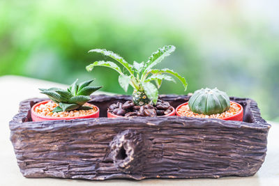
<svg viewBox="0 0 279 186">
<path fill-rule="evenodd" d="M 133 102 L 135 104 L 143 105 L 152 102 L 156 104 L 158 100 L 158 88 L 160 88 L 162 81 L 165 79 L 175 82 L 174 78 L 169 75 L 177 77 L 182 82 L 186 91 L 187 82 L 184 77 L 181 77 L 181 75 L 168 68 L 153 69 L 155 65 L 163 61 L 163 59 L 174 52 L 174 50 L 175 47 L 172 45 L 159 48 L 156 52 L 151 54 L 148 61 L 142 63 L 134 61 L 133 65 L 130 65 L 125 59 L 114 52 L 107 51 L 106 49 L 91 49 L 89 52 L 98 52 L 118 61 L 128 71 L 128 74 L 124 73 L 123 70 L 119 68 L 119 65 L 116 65 L 116 63 L 112 61 L 95 61 L 87 65 L 86 70 L 91 71 L 96 66 L 112 68 L 116 70 L 116 72 L 119 72 L 119 84 L 124 91 L 128 90 L 129 85 L 134 88 Z M 157 87 L 151 82 L 155 82 Z"/>
</svg>

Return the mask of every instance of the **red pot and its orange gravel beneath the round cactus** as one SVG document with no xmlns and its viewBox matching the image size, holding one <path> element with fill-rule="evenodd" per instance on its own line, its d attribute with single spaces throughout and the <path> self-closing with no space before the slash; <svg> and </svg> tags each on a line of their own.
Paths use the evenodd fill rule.
<svg viewBox="0 0 279 186">
<path fill-rule="evenodd" d="M 221 114 L 197 114 L 190 110 L 188 106 L 188 102 L 179 105 L 176 108 L 176 115 L 177 116 L 188 116 L 188 117 L 195 117 L 195 118 L 218 118 L 223 120 L 232 120 L 232 121 L 243 121 L 243 107 L 241 104 L 237 102 L 229 102 L 230 107 L 229 110 L 224 111 Z"/>
</svg>

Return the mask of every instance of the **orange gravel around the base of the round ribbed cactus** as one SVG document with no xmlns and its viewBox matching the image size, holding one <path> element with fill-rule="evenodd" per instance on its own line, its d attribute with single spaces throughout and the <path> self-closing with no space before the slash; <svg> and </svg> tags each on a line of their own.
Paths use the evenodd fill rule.
<svg viewBox="0 0 279 186">
<path fill-rule="evenodd" d="M 211 114 L 211 115 L 205 115 L 205 114 L 197 114 L 190 110 L 188 104 L 183 105 L 177 110 L 177 113 L 180 116 L 188 116 L 188 117 L 195 117 L 195 118 L 227 118 L 229 116 L 233 116 L 235 114 L 238 114 L 241 111 L 241 108 L 237 106 L 234 102 L 230 102 L 229 110 L 221 113 L 221 114 Z"/>
</svg>

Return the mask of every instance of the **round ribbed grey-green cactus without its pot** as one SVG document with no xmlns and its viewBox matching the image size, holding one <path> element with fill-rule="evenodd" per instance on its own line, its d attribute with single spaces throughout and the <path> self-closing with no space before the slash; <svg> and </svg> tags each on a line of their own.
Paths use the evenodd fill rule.
<svg viewBox="0 0 279 186">
<path fill-rule="evenodd" d="M 191 96 L 188 102 L 191 111 L 197 114 L 220 114 L 230 107 L 229 96 L 217 88 L 202 88 Z"/>
</svg>

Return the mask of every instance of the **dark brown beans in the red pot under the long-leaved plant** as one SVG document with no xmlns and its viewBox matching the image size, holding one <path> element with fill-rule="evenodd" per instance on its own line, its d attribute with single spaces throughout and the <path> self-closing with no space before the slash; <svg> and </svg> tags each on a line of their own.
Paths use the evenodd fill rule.
<svg viewBox="0 0 279 186">
<path fill-rule="evenodd" d="M 117 102 L 111 104 L 107 109 L 108 118 L 116 118 L 122 116 L 174 116 L 175 109 L 169 102 L 158 100 L 156 105 L 146 104 L 137 106 L 133 101 L 129 100 L 124 103 Z"/>
</svg>

